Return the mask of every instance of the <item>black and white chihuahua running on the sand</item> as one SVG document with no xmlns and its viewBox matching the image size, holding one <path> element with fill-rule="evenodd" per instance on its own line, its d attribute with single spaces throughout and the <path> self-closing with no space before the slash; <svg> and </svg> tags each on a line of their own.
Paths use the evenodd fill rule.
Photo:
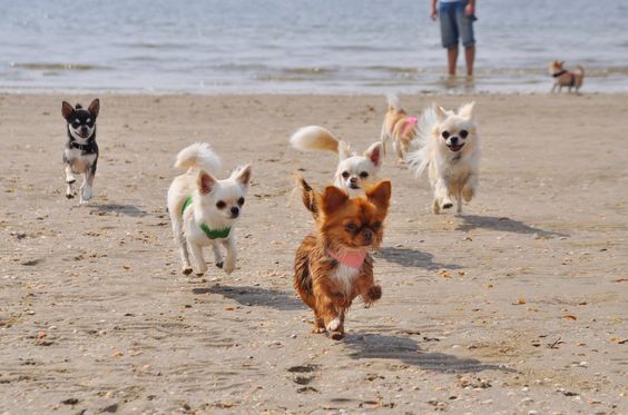
<svg viewBox="0 0 628 415">
<path fill-rule="evenodd" d="M 75 197 L 72 184 L 77 181 L 75 175 L 82 174 L 80 187 L 80 202 L 86 204 L 91 198 L 91 186 L 96 176 L 98 161 L 98 145 L 96 144 L 96 118 L 100 111 L 100 101 L 95 99 L 87 109 L 80 103 L 76 108 L 66 101 L 61 105 L 61 113 L 68 122 L 68 142 L 63 150 L 66 166 L 66 197 Z"/>
</svg>

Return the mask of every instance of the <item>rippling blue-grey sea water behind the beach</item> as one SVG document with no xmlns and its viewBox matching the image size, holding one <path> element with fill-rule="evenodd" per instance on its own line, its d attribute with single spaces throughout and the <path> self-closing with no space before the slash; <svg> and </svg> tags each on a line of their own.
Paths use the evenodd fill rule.
<svg viewBox="0 0 628 415">
<path fill-rule="evenodd" d="M 444 77 L 430 0 L 0 0 L 0 90 L 628 91 L 628 1 L 478 0 L 477 76 Z M 464 73 L 462 56 L 460 73 Z"/>
</svg>

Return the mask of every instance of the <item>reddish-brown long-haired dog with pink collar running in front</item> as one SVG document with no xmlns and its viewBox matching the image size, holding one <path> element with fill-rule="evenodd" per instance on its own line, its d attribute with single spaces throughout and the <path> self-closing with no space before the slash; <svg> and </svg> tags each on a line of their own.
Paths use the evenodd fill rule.
<svg viewBox="0 0 628 415">
<path fill-rule="evenodd" d="M 314 196 L 317 229 L 296 250 L 294 288 L 314 310 L 313 333 L 328 332 L 337 340 L 344 337 L 344 317 L 355 297 L 366 305 L 382 297 L 369 251 L 384 235 L 391 182 L 379 181 L 353 199 L 334 186 Z"/>
</svg>

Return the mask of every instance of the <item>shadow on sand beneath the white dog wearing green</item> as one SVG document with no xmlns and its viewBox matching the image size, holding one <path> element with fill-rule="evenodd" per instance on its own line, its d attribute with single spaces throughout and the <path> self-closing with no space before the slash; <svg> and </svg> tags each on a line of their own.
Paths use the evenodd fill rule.
<svg viewBox="0 0 628 415">
<path fill-rule="evenodd" d="M 292 293 L 274 288 L 214 285 L 210 287 L 194 288 L 194 294 L 216 294 L 230 298 L 243 306 L 269 307 L 278 310 L 304 309 L 306 306 Z"/>
</svg>

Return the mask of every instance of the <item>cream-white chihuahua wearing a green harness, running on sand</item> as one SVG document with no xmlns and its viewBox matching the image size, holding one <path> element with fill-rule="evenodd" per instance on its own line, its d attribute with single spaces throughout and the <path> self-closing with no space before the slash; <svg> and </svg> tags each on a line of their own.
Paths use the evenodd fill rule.
<svg viewBox="0 0 628 415">
<path fill-rule="evenodd" d="M 235 224 L 242 215 L 251 181 L 251 165 L 237 168 L 224 180 L 215 178 L 220 168 L 218 156 L 208 144 L 196 142 L 184 148 L 175 167 L 187 172 L 176 177 L 168 189 L 168 211 L 175 241 L 179 246 L 183 273 L 192 273 L 188 247 L 198 265 L 198 275 L 207 264 L 203 247 L 212 245 L 216 266 L 230 274 L 236 265 Z M 226 261 L 219 245 L 227 250 Z"/>
</svg>

